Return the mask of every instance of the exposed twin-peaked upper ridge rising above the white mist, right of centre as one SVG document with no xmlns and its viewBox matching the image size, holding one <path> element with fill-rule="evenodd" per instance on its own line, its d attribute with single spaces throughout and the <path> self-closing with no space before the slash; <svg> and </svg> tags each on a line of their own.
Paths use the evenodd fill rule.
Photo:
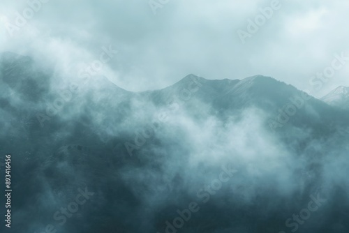
<svg viewBox="0 0 349 233">
<path fill-rule="evenodd" d="M 223 121 L 241 114 L 248 108 L 257 108 L 269 117 L 265 122 L 266 125 L 274 119 L 284 118 L 280 115 L 288 115 L 285 113 L 289 110 L 288 107 L 295 107 L 295 116 L 291 112 L 292 116 L 285 116 L 289 119 L 287 123 L 275 127 L 277 131 L 283 132 L 297 127 L 311 130 L 315 135 L 323 137 L 327 133 L 331 134 L 337 123 L 341 125 L 348 123 L 347 114 L 341 109 L 308 96 L 290 84 L 263 75 L 246 77 L 242 80 L 206 80 L 188 75 L 170 87 L 146 91 L 141 95 L 155 105 L 180 103 L 188 114 L 198 119 L 200 115 L 197 113 L 204 105 L 212 116 Z M 324 121 L 327 124 L 324 124 Z"/>
</svg>

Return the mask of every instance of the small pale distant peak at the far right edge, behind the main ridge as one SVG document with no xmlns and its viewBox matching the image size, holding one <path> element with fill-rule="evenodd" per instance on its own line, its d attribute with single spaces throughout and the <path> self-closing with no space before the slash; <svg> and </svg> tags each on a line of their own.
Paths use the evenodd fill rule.
<svg viewBox="0 0 349 233">
<path fill-rule="evenodd" d="M 320 98 L 320 100 L 329 105 L 349 110 L 349 87 L 337 87 L 333 91 L 330 91 L 326 96 Z"/>
</svg>

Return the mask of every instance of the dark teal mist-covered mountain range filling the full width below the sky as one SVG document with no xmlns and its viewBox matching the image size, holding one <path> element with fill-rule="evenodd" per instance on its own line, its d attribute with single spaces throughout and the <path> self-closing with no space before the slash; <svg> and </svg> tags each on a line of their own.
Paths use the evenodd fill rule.
<svg viewBox="0 0 349 233">
<path fill-rule="evenodd" d="M 142 92 L 75 76 L 0 54 L 13 232 L 349 229 L 348 111 L 263 75 Z"/>
</svg>

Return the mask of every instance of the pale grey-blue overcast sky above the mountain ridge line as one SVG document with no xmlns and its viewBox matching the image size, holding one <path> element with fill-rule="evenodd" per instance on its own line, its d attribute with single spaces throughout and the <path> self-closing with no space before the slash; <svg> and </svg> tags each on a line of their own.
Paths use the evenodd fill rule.
<svg viewBox="0 0 349 233">
<path fill-rule="evenodd" d="M 102 47 L 112 45 L 118 53 L 102 73 L 130 91 L 161 89 L 189 73 L 232 80 L 267 75 L 313 96 L 349 87 L 349 61 L 320 90 L 309 84 L 332 66 L 334 54 L 349 57 L 348 0 L 280 0 L 245 43 L 238 30 L 247 33 L 248 20 L 272 0 L 165 2 L 154 0 L 152 8 L 149 0 L 50 0 L 34 4 L 34 12 L 26 11 L 27 1 L 4 0 L 0 51 L 54 61 L 64 74 L 98 59 Z M 18 27 L 16 12 L 31 18 Z"/>
</svg>

